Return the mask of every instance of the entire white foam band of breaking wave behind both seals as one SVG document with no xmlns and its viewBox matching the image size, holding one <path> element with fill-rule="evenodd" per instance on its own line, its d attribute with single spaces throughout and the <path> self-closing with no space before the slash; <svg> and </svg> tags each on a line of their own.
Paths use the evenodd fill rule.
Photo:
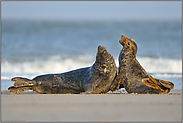
<svg viewBox="0 0 183 123">
<path fill-rule="evenodd" d="M 156 73 L 157 77 L 181 77 L 182 60 L 181 59 L 163 59 L 138 57 L 139 63 L 148 73 Z M 1 79 L 10 79 L 5 74 L 11 75 L 27 75 L 27 74 L 45 74 L 45 73 L 62 73 L 74 69 L 91 66 L 95 61 L 95 57 L 78 56 L 60 57 L 54 56 L 46 59 L 35 59 L 33 61 L 10 62 L 3 61 L 1 63 Z M 119 66 L 118 60 L 116 65 Z M 173 73 L 173 74 L 167 74 Z"/>
</svg>

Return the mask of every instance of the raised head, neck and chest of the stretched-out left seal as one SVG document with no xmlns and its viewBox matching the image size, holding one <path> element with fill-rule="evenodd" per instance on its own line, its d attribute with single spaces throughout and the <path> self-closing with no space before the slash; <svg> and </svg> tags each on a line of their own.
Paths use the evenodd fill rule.
<svg viewBox="0 0 183 123">
<path fill-rule="evenodd" d="M 113 56 L 102 45 L 98 46 L 91 72 L 92 79 L 95 79 L 91 93 L 107 93 L 117 75 L 117 68 Z"/>
</svg>

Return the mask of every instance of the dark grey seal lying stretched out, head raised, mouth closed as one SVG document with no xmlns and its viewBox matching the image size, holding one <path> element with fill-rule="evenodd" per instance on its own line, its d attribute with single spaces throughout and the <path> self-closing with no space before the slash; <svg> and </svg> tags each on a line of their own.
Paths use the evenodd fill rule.
<svg viewBox="0 0 183 123">
<path fill-rule="evenodd" d="M 25 90 L 33 90 L 40 94 L 92 94 L 107 93 L 117 75 L 113 56 L 102 45 L 98 46 L 96 61 L 91 67 L 81 68 L 61 74 L 46 74 L 30 80 L 14 77 L 14 86 L 8 90 L 20 94 Z"/>
</svg>

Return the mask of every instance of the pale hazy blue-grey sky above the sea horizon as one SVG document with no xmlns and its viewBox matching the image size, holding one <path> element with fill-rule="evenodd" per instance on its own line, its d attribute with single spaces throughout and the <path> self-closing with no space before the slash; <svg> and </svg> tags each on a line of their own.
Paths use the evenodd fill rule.
<svg viewBox="0 0 183 123">
<path fill-rule="evenodd" d="M 2 19 L 182 19 L 181 1 L 2 1 Z"/>
</svg>

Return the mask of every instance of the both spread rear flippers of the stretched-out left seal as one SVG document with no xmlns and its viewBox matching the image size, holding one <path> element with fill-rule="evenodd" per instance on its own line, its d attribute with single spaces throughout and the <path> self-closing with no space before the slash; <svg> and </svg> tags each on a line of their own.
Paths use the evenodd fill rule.
<svg viewBox="0 0 183 123">
<path fill-rule="evenodd" d="M 36 81 L 22 77 L 14 77 L 11 81 L 14 81 L 14 86 L 9 87 L 8 90 L 16 94 L 25 90 L 32 90 L 32 86 L 36 84 Z"/>
</svg>

